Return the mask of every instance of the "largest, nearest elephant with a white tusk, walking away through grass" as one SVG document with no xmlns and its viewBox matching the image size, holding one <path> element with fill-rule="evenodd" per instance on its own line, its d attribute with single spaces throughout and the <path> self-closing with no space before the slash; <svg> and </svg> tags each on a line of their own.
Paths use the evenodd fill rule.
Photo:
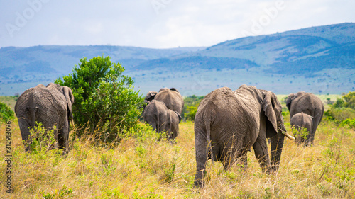
<svg viewBox="0 0 355 199">
<path fill-rule="evenodd" d="M 281 110 L 274 93 L 255 86 L 242 85 L 236 91 L 223 87 L 205 96 L 195 117 L 195 186 L 202 186 L 207 159 L 222 161 L 224 169 L 240 159 L 246 167 L 251 147 L 263 171 L 277 171 L 285 135 L 295 139 L 285 132 Z"/>
</svg>

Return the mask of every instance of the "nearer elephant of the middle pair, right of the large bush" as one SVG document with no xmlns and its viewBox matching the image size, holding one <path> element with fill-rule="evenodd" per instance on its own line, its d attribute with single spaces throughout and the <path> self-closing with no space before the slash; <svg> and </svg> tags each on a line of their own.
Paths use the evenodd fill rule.
<svg viewBox="0 0 355 199">
<path fill-rule="evenodd" d="M 168 132 L 170 140 L 175 139 L 179 134 L 180 114 L 168 109 L 161 101 L 148 102 L 143 118 L 156 132 Z"/>
</svg>

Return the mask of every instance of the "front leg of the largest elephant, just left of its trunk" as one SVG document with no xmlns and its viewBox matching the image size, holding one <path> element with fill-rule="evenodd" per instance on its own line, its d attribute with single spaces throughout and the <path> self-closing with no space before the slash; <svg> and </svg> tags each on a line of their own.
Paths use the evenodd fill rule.
<svg viewBox="0 0 355 199">
<path fill-rule="evenodd" d="M 256 138 L 253 149 L 263 172 L 266 171 L 270 173 L 270 159 L 268 157 L 268 146 L 266 145 L 265 135 L 260 134 L 258 138 Z"/>
</svg>

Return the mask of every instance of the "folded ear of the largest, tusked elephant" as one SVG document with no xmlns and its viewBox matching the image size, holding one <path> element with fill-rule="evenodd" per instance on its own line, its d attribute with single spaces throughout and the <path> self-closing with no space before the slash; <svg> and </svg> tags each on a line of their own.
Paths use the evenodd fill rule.
<svg viewBox="0 0 355 199">
<path fill-rule="evenodd" d="M 272 125 L 272 129 L 275 130 L 275 133 L 278 132 L 278 103 L 276 102 L 278 99 L 275 94 L 271 91 L 266 91 L 263 101 L 263 111 L 268 118 L 268 121 Z M 267 121 L 266 121 L 267 122 Z"/>
</svg>

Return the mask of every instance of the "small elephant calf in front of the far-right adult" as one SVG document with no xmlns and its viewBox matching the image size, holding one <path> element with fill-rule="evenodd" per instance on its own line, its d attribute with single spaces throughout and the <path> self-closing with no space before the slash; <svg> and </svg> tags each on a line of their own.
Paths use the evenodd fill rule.
<svg viewBox="0 0 355 199">
<path fill-rule="evenodd" d="M 306 129 L 308 133 L 306 139 L 302 135 L 297 134 L 297 136 L 295 136 L 296 144 L 300 145 L 304 143 L 305 146 L 310 145 L 310 139 L 308 136 L 310 135 L 310 130 L 312 130 L 312 126 L 313 126 L 312 117 L 303 112 L 296 113 L 291 118 L 291 126 L 294 126 L 298 132 L 301 132 L 302 129 Z M 308 142 L 305 142 L 305 140 L 308 140 Z"/>
</svg>

